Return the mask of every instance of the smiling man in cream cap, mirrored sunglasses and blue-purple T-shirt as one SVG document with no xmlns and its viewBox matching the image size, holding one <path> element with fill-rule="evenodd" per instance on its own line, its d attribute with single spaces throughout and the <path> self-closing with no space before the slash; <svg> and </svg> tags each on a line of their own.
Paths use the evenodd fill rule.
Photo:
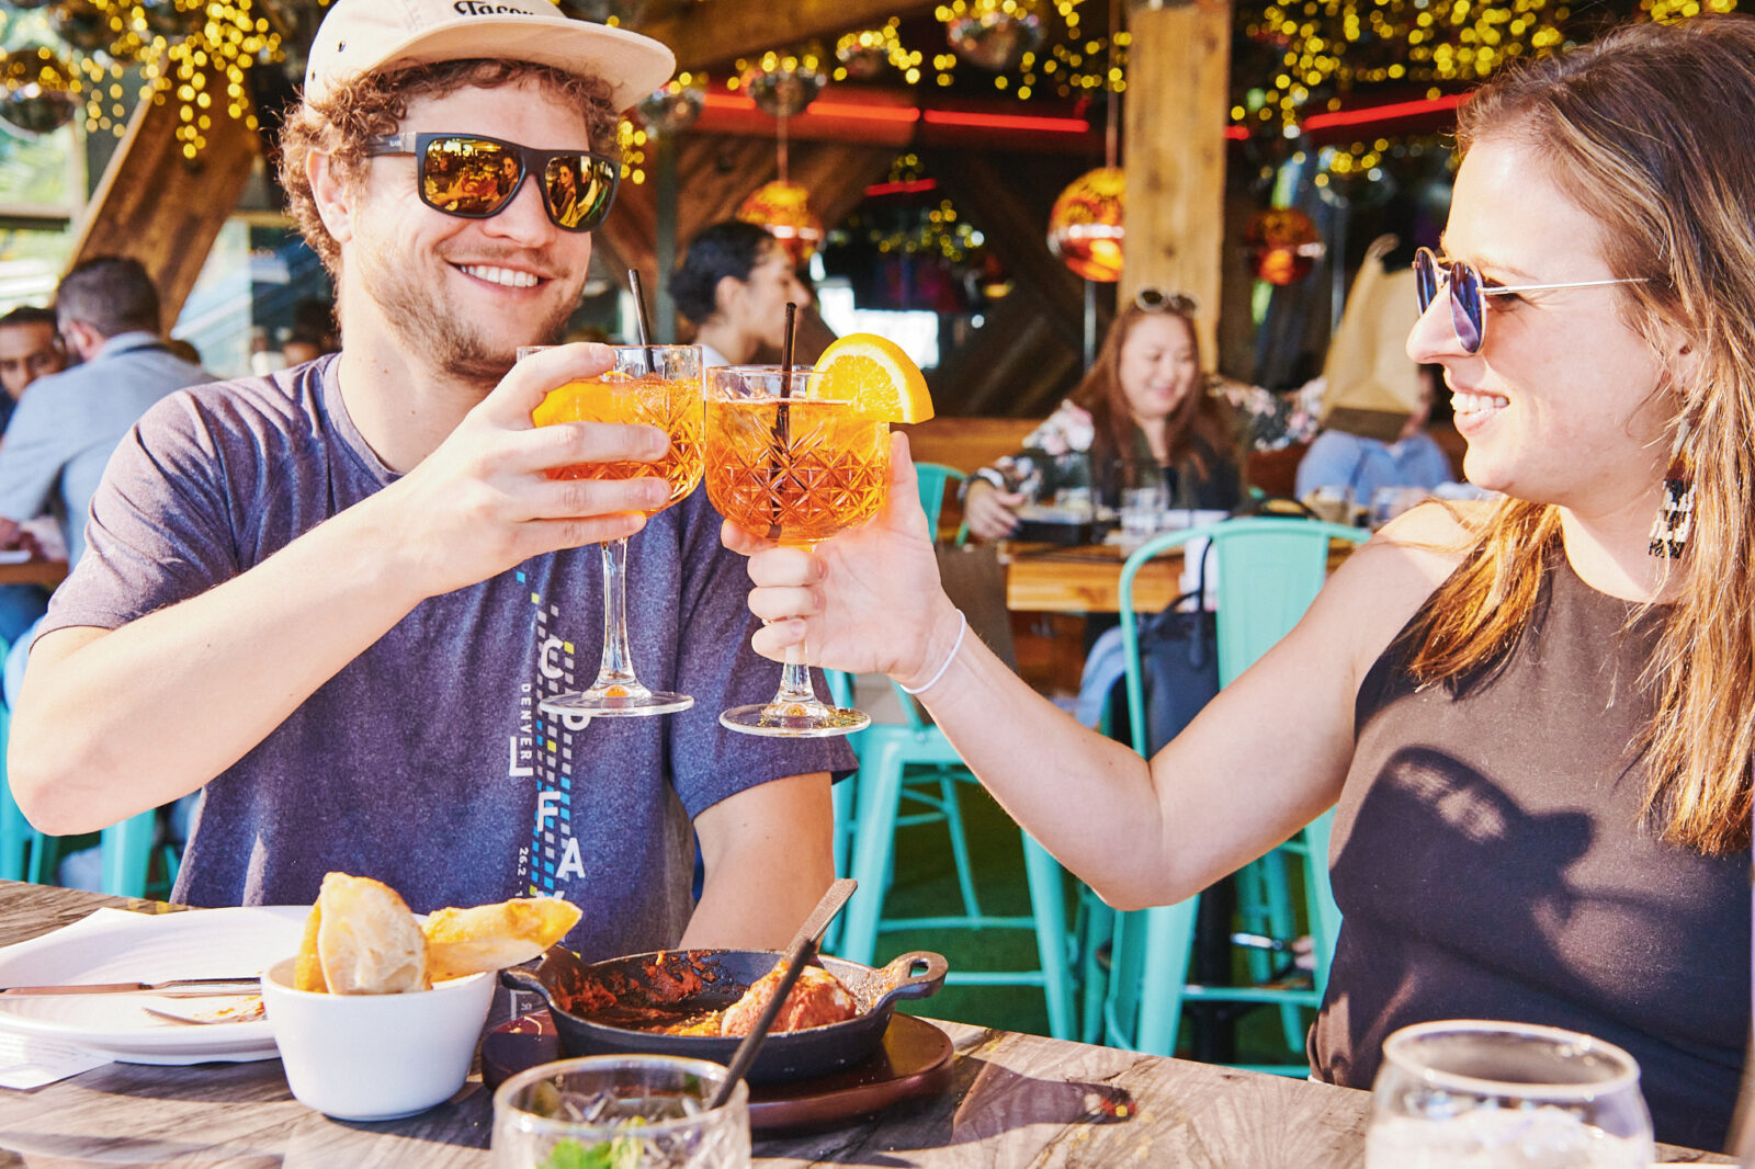
<svg viewBox="0 0 1755 1169">
<path fill-rule="evenodd" d="M 562 893 L 591 957 L 797 929 L 832 876 L 828 771 L 851 753 L 718 725 L 774 669 L 704 493 L 642 521 L 662 479 L 551 479 L 651 462 L 665 437 L 532 427 L 549 388 L 607 369 L 600 348 L 514 367 L 562 335 L 595 226 L 555 221 L 532 151 L 590 161 L 672 67 L 546 0 L 330 5 L 281 177 L 335 277 L 342 351 L 177 395 L 118 455 L 12 723 L 35 823 L 93 828 L 205 785 L 174 893 L 193 904 L 309 902 L 342 869 L 418 911 Z M 498 151 L 514 183 L 483 198 L 425 184 L 458 160 L 498 174 Z M 553 720 L 541 700 L 597 658 L 593 544 L 641 528 L 634 653 L 697 704 Z"/>
</svg>

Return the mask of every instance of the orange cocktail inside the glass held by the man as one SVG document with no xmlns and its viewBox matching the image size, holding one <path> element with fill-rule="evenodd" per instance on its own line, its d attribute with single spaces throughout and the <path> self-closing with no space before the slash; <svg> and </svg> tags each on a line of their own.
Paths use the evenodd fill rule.
<svg viewBox="0 0 1755 1169">
<path fill-rule="evenodd" d="M 663 511 L 700 484 L 700 383 L 674 381 L 658 374 L 611 370 L 602 377 L 569 381 L 542 398 L 530 414 L 539 427 L 569 421 L 644 423 L 670 435 L 670 449 L 653 463 L 605 462 L 556 467 L 551 479 L 642 479 L 670 481 L 670 498 L 646 514 Z"/>
</svg>

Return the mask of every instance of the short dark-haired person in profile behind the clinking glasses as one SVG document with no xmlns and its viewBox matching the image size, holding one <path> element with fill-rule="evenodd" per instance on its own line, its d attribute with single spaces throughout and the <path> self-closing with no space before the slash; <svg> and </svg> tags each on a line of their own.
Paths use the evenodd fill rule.
<svg viewBox="0 0 1755 1169">
<path fill-rule="evenodd" d="M 786 339 L 786 302 L 809 304 L 792 258 L 779 240 L 753 223 L 727 219 L 702 228 L 670 276 L 670 295 L 695 321 L 704 363 L 742 365 L 765 342 Z"/>
</svg>

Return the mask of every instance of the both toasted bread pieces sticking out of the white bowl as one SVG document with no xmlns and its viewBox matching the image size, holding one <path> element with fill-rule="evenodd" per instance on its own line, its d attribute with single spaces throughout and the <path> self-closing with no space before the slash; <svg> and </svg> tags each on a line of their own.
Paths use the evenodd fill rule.
<svg viewBox="0 0 1755 1169">
<path fill-rule="evenodd" d="M 441 909 L 423 925 L 383 881 L 330 872 L 305 920 L 293 985 L 340 995 L 426 990 L 528 962 L 577 920 L 577 906 L 530 897 Z"/>
</svg>

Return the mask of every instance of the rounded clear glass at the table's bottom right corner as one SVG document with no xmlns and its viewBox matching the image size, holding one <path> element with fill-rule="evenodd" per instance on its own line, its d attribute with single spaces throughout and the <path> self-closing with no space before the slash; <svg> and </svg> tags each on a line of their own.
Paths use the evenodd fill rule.
<svg viewBox="0 0 1755 1169">
<path fill-rule="evenodd" d="M 1534 1023 L 1448 1020 L 1383 1043 L 1365 1169 L 1650 1169 L 1639 1065 Z"/>
</svg>

